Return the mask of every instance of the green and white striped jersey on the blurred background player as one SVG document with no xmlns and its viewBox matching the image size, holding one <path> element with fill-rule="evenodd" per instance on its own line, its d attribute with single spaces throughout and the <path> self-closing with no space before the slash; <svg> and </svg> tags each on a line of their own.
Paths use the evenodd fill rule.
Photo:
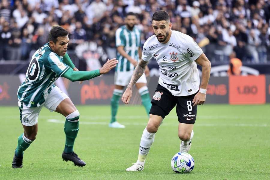
<svg viewBox="0 0 270 180">
<path fill-rule="evenodd" d="M 121 26 L 116 30 L 116 47 L 124 46 L 124 50 L 136 61 L 139 61 L 138 48 L 140 47 L 140 30 L 134 26 L 133 30 L 130 31 L 126 26 Z M 127 58 L 124 58 L 117 52 L 117 59 L 119 63 L 116 66 L 116 71 L 133 71 L 134 66 Z"/>
</svg>

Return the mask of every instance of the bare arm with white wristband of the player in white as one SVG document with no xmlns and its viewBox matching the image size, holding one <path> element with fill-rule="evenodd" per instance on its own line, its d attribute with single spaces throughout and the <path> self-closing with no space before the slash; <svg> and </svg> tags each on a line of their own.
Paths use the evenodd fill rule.
<svg viewBox="0 0 270 180">
<path fill-rule="evenodd" d="M 206 89 L 210 78 L 211 63 L 208 58 L 202 53 L 199 58 L 195 60 L 197 64 L 202 66 L 202 83 L 199 92 L 195 95 L 192 103 L 193 106 L 201 105 L 205 102 Z"/>
</svg>

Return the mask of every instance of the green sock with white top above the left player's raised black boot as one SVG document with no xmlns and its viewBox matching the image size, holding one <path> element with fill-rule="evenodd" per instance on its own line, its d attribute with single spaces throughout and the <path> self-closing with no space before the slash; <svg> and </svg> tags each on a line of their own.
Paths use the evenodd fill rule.
<svg viewBox="0 0 270 180">
<path fill-rule="evenodd" d="M 79 111 L 76 110 L 66 117 L 66 122 L 64 125 L 64 132 L 66 134 L 66 143 L 64 152 L 73 152 L 73 146 L 75 139 L 79 131 Z"/>
</svg>

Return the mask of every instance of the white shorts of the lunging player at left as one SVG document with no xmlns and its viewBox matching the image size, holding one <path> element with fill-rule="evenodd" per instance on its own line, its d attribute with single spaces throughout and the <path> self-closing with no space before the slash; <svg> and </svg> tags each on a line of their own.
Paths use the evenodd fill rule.
<svg viewBox="0 0 270 180">
<path fill-rule="evenodd" d="M 46 99 L 43 104 L 39 107 L 27 107 L 24 103 L 18 101 L 20 108 L 20 119 L 23 125 L 33 126 L 38 123 L 38 115 L 43 106 L 48 110 L 55 111 L 57 106 L 68 96 L 62 92 L 57 86 L 52 87 L 50 93 L 45 93 L 44 98 Z"/>
</svg>

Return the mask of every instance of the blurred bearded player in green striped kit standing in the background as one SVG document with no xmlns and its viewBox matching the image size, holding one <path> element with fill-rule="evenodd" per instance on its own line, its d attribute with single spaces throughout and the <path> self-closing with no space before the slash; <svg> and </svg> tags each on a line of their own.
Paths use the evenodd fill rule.
<svg viewBox="0 0 270 180">
<path fill-rule="evenodd" d="M 111 99 L 111 122 L 109 127 L 112 128 L 125 128 L 124 125 L 119 124 L 116 121 L 116 113 L 119 106 L 119 99 L 123 94 L 123 89 L 128 85 L 134 67 L 138 64 L 140 57 L 142 56 L 141 44 L 140 44 L 140 30 L 135 26 L 137 17 L 134 13 L 130 12 L 125 18 L 125 25 L 116 30 L 116 47 L 117 47 L 117 59 L 119 64 L 116 67 L 115 72 L 115 89 L 113 91 L 113 97 Z M 149 69 L 145 71 L 146 75 L 149 74 Z M 146 109 L 146 113 L 149 115 L 151 108 L 149 91 L 146 86 L 146 76 L 143 76 L 137 81 L 136 87 L 141 95 L 142 104 Z"/>
</svg>

